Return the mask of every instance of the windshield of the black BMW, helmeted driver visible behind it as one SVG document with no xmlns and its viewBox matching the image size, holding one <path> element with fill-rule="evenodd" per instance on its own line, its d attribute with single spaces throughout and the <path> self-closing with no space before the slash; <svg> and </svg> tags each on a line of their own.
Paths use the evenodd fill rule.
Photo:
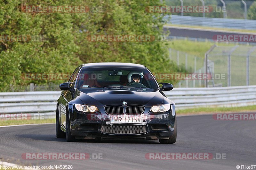
<svg viewBox="0 0 256 170">
<path fill-rule="evenodd" d="M 140 88 L 142 91 L 158 88 L 147 69 L 124 67 L 84 68 L 77 76 L 76 85 L 77 88 Z"/>
</svg>

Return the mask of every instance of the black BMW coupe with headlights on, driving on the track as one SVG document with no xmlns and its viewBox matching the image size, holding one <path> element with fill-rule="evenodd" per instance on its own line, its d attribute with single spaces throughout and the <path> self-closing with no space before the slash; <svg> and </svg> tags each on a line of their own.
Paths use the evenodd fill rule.
<svg viewBox="0 0 256 170">
<path fill-rule="evenodd" d="M 161 85 L 161 88 L 159 86 Z M 175 104 L 144 66 L 132 63 L 80 65 L 57 100 L 56 136 L 76 139 L 159 139 L 173 144 L 177 137 Z"/>
</svg>

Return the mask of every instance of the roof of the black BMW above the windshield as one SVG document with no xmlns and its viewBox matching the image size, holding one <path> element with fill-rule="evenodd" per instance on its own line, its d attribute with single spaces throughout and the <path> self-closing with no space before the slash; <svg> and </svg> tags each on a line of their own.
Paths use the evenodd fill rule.
<svg viewBox="0 0 256 170">
<path fill-rule="evenodd" d="M 145 66 L 142 64 L 134 64 L 134 63 L 87 63 L 83 64 L 84 68 L 93 68 L 93 67 L 131 67 L 131 68 L 141 68 L 145 69 Z"/>
</svg>

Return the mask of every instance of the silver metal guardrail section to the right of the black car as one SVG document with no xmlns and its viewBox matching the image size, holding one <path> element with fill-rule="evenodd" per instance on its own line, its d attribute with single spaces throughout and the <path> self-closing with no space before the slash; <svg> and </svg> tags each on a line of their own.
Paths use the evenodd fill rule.
<svg viewBox="0 0 256 170">
<path fill-rule="evenodd" d="M 256 105 L 256 85 L 208 88 L 174 88 L 165 92 L 177 109 Z"/>
</svg>

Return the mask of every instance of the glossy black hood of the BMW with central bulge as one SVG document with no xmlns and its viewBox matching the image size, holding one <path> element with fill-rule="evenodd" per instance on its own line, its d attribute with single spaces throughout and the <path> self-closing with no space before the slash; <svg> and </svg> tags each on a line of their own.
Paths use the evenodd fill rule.
<svg viewBox="0 0 256 170">
<path fill-rule="evenodd" d="M 143 105 L 153 106 L 162 104 L 164 95 L 159 91 L 137 92 L 131 90 L 95 90 L 76 89 L 76 95 L 87 105 L 103 107 L 106 105 Z"/>
</svg>

